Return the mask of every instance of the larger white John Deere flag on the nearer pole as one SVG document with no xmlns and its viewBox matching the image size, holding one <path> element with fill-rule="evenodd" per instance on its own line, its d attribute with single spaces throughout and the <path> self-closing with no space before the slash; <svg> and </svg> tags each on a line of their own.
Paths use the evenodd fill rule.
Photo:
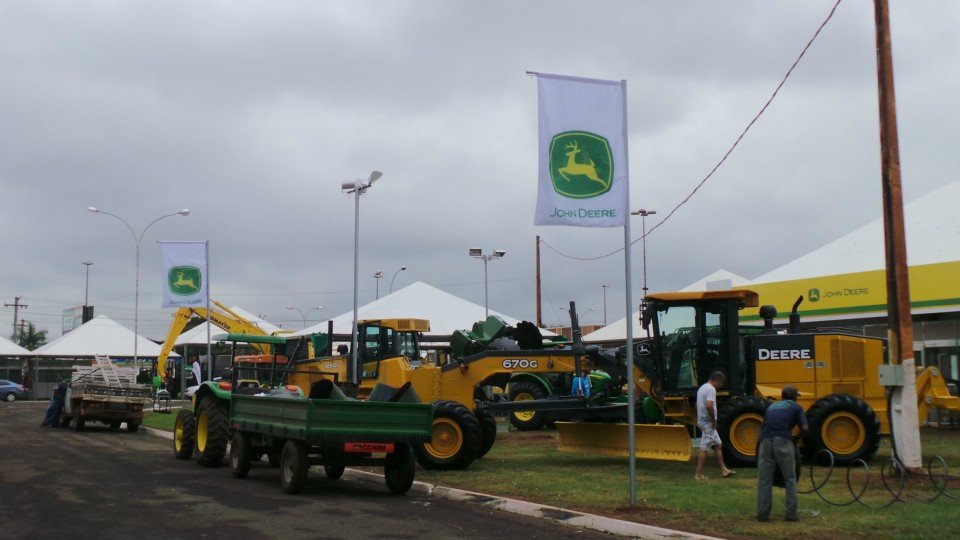
<svg viewBox="0 0 960 540">
<path fill-rule="evenodd" d="M 630 200 L 624 82 L 539 73 L 537 87 L 534 225 L 624 226 Z"/>
</svg>

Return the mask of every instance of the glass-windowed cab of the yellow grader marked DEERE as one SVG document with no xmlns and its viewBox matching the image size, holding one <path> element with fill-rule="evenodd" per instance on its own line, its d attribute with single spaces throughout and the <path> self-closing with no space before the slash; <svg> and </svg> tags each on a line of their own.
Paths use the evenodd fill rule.
<svg viewBox="0 0 960 540">
<path fill-rule="evenodd" d="M 651 391 L 664 398 L 690 398 L 722 371 L 719 392 L 753 392 L 739 335 L 738 311 L 754 307 L 752 291 L 708 291 L 652 294 L 644 299 L 642 324 L 650 336 L 637 346 L 637 363 L 650 380 Z"/>
</svg>

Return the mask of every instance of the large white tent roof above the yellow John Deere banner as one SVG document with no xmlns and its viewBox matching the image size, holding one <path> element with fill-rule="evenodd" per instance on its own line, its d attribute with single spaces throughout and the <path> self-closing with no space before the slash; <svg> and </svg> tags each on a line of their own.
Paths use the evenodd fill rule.
<svg viewBox="0 0 960 540">
<path fill-rule="evenodd" d="M 907 261 L 910 266 L 960 260 L 960 182 L 904 205 Z M 883 218 L 771 270 L 754 283 L 776 283 L 817 276 L 881 270 L 885 266 Z"/>
</svg>

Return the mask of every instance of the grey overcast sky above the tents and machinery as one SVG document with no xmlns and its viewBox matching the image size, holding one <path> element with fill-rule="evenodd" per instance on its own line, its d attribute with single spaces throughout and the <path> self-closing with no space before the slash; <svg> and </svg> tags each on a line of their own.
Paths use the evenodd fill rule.
<svg viewBox="0 0 960 540">
<path fill-rule="evenodd" d="M 0 299 L 61 334 L 84 300 L 162 339 L 158 240 L 209 240 L 212 297 L 284 328 L 423 281 L 584 324 L 626 314 L 623 229 L 534 227 L 527 71 L 626 80 L 630 205 L 676 207 L 759 112 L 835 0 L 0 0 Z M 960 3 L 892 0 L 907 202 L 956 181 Z M 844 0 L 777 99 L 647 238 L 651 291 L 757 277 L 880 217 L 873 2 Z M 635 218 L 632 238 L 643 224 Z M 882 250 L 882 245 L 877 245 Z M 643 284 L 632 250 L 633 298 Z M 592 260 L 583 260 L 592 259 Z M 396 274 L 401 265 L 407 270 Z M 395 278 L 394 278 L 395 277 Z M 593 311 L 590 311 L 590 310 Z M 4 307 L 2 335 L 12 333 Z M 401 316 L 402 314 L 397 314 Z"/>
</svg>

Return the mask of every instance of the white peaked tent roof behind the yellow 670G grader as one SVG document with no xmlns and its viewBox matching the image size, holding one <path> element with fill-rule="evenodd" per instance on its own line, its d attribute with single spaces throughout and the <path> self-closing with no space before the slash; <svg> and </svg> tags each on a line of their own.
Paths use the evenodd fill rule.
<svg viewBox="0 0 960 540">
<path fill-rule="evenodd" d="M 490 310 L 491 315 L 501 317 L 507 324 L 514 326 L 519 319 Z M 450 293 L 431 287 L 422 281 L 408 285 L 387 296 L 374 300 L 357 308 L 357 317 L 363 319 L 427 319 L 430 321 L 432 335 L 449 335 L 456 330 L 469 330 L 477 321 L 486 318 L 483 306 L 478 306 Z M 292 335 L 326 333 L 327 322 L 310 326 L 294 332 Z M 353 310 L 333 318 L 333 333 L 349 334 L 353 331 Z M 552 332 L 540 329 L 545 336 Z"/>
</svg>

